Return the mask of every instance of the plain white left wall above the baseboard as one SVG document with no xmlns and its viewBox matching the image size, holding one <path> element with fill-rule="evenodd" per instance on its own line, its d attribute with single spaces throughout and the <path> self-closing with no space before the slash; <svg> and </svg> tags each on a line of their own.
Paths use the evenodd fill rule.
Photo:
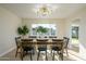
<svg viewBox="0 0 86 64">
<path fill-rule="evenodd" d="M 14 37 L 21 18 L 0 8 L 0 56 L 15 48 Z"/>
</svg>

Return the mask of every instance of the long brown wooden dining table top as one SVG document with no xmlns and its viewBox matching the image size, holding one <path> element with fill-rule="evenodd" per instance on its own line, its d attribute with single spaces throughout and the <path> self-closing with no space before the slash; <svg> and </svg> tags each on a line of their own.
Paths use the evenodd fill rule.
<svg viewBox="0 0 86 64">
<path fill-rule="evenodd" d="M 37 41 L 40 40 L 40 41 Z M 22 39 L 22 42 L 26 42 L 29 44 L 59 44 L 63 43 L 63 39 Z"/>
</svg>

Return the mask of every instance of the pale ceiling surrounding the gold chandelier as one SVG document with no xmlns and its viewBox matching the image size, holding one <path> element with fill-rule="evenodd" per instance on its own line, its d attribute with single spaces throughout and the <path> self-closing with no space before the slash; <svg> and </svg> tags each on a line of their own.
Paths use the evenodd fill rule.
<svg viewBox="0 0 86 64">
<path fill-rule="evenodd" d="M 13 12 L 22 18 L 66 18 L 86 7 L 84 3 L 51 3 L 51 7 L 56 7 L 54 12 L 49 16 L 39 17 L 34 11 L 37 5 L 41 5 L 41 3 L 0 3 L 0 7 Z"/>
</svg>

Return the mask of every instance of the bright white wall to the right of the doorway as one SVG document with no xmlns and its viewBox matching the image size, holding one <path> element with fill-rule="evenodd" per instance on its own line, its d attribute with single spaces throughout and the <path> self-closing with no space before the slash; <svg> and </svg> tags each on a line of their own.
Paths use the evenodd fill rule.
<svg viewBox="0 0 86 64">
<path fill-rule="evenodd" d="M 86 13 L 81 17 L 79 55 L 86 60 Z"/>
</svg>

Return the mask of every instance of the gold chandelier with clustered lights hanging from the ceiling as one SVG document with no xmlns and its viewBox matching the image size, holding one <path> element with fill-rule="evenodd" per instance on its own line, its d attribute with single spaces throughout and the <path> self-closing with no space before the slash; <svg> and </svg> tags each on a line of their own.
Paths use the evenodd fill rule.
<svg viewBox="0 0 86 64">
<path fill-rule="evenodd" d="M 49 5 L 41 5 L 37 9 L 38 16 L 49 16 L 52 10 Z"/>
</svg>

